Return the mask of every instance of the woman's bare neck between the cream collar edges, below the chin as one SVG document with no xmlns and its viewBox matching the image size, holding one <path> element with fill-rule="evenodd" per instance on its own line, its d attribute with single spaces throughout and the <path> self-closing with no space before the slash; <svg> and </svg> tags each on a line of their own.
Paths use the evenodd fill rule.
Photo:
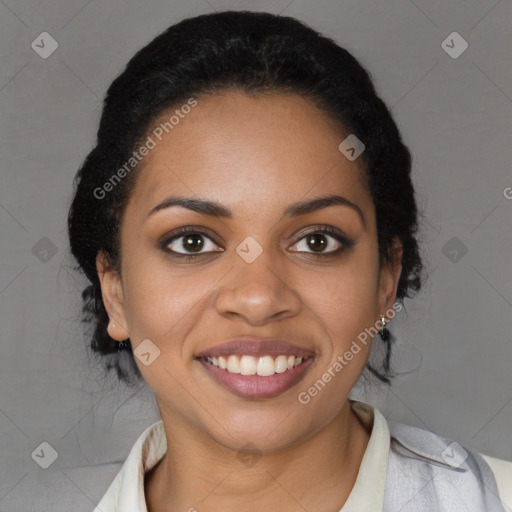
<svg viewBox="0 0 512 512">
<path fill-rule="evenodd" d="M 370 433 L 348 400 L 304 442 L 244 458 L 162 414 L 167 453 L 145 475 L 149 512 L 339 510 L 354 486 Z M 321 497 L 321 498 L 319 498 Z"/>
</svg>

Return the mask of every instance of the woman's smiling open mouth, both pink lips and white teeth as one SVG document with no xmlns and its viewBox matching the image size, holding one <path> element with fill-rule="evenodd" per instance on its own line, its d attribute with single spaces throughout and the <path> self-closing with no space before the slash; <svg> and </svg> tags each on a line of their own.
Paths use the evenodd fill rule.
<svg viewBox="0 0 512 512">
<path fill-rule="evenodd" d="M 295 386 L 315 354 L 283 341 L 236 340 L 197 355 L 207 374 L 244 398 L 272 398 Z"/>
</svg>

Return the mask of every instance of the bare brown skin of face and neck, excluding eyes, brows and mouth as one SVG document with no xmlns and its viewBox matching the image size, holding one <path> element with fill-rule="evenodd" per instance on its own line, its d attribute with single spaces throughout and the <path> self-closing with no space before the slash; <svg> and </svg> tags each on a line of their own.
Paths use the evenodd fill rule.
<svg viewBox="0 0 512 512">
<path fill-rule="evenodd" d="M 136 359 L 156 394 L 168 444 L 146 474 L 148 510 L 339 510 L 369 439 L 347 397 L 370 344 L 309 404 L 297 396 L 392 307 L 399 244 L 393 264 L 381 268 L 361 160 L 340 153 L 348 133 L 312 102 L 233 90 L 197 100 L 143 162 L 122 219 L 120 272 L 108 269 L 101 253 L 97 259 L 109 334 L 130 337 L 134 350 L 148 338 L 161 351 L 149 366 Z M 346 205 L 283 213 L 332 194 L 355 203 L 364 222 Z M 172 206 L 148 217 L 171 195 L 218 202 L 232 216 Z M 190 225 L 211 233 L 203 251 L 222 250 L 187 261 L 160 246 L 165 235 Z M 305 233 L 325 225 L 353 245 L 320 235 L 324 251 L 344 250 L 315 252 Z M 235 251 L 249 236 L 263 249 L 250 264 Z M 182 240 L 172 248 L 185 251 Z M 281 395 L 242 398 L 194 358 L 238 336 L 284 338 L 312 350 L 315 360 Z M 262 455 L 252 465 L 237 456 L 247 443 Z"/>
</svg>

